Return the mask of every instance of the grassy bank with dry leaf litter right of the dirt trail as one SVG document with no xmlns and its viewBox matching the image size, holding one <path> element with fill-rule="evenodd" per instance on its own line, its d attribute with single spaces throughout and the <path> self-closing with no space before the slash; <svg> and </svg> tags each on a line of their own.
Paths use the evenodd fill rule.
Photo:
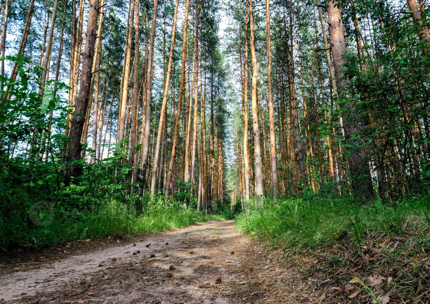
<svg viewBox="0 0 430 304">
<path fill-rule="evenodd" d="M 388 203 L 312 197 L 276 204 L 255 198 L 249 206 L 237 227 L 281 250 L 295 273 L 295 290 L 333 302 L 428 302 L 428 197 Z"/>
</svg>

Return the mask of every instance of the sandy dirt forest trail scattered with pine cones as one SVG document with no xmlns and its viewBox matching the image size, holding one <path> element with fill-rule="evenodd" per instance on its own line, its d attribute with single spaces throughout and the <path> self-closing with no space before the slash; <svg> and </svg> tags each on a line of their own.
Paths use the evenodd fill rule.
<svg viewBox="0 0 430 304">
<path fill-rule="evenodd" d="M 11 268 L 0 274 L 0 302 L 285 303 L 273 290 L 283 284 L 271 279 L 288 273 L 277 254 L 234 221 L 197 223 L 31 267 L 37 269 Z"/>
</svg>

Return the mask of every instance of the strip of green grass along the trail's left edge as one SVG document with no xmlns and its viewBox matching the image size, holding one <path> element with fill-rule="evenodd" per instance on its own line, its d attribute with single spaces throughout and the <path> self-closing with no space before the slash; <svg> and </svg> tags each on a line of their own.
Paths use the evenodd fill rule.
<svg viewBox="0 0 430 304">
<path fill-rule="evenodd" d="M 0 217 L 0 249 L 4 251 L 13 246 L 46 246 L 71 240 L 157 232 L 222 218 L 178 203 L 171 204 L 165 210 L 164 200 L 146 204 L 138 216 L 131 206 L 116 200 L 99 203 L 86 211 L 54 208 L 43 211 L 39 214 L 38 223 L 44 222 L 46 225 L 34 224 L 29 220 L 30 216 L 10 215 L 7 221 Z"/>
</svg>

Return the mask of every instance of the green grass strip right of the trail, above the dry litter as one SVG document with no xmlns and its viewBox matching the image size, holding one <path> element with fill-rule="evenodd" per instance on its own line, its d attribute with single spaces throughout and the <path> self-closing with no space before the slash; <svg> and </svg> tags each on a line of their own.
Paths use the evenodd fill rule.
<svg viewBox="0 0 430 304">
<path fill-rule="evenodd" d="M 246 233 L 269 240 L 277 248 L 317 249 L 348 237 L 360 250 L 362 239 L 370 233 L 399 236 L 417 227 L 428 231 L 428 201 L 428 197 L 414 197 L 396 203 L 382 204 L 376 200 L 372 205 L 363 205 L 346 199 L 291 199 L 275 206 L 264 203 L 259 209 L 239 215 L 236 225 Z"/>
</svg>

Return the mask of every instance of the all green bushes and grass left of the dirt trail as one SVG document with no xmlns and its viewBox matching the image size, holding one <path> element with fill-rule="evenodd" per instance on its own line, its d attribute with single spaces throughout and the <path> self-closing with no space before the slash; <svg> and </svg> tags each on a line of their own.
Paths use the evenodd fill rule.
<svg viewBox="0 0 430 304">
<path fill-rule="evenodd" d="M 95 164 L 78 160 L 83 173 L 64 184 L 63 135 L 67 102 L 64 83 L 40 89 L 39 67 L 19 55 L 16 80 L 0 92 L 0 250 L 42 246 L 83 238 L 167 230 L 218 218 L 197 212 L 194 184 L 181 185 L 175 199 L 126 191 L 126 148 Z M 30 143 L 30 148 L 25 145 Z M 93 153 L 94 151 L 87 151 Z M 134 186 L 138 186 L 135 184 Z"/>
</svg>

